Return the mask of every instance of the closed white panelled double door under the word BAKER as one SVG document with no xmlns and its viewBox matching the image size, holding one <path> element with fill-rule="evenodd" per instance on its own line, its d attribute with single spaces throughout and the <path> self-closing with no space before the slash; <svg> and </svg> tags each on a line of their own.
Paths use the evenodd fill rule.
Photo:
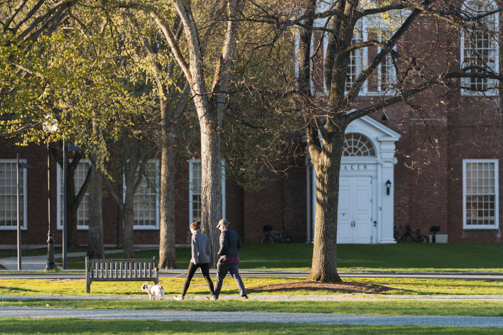
<svg viewBox="0 0 503 335">
<path fill-rule="evenodd" d="M 371 243 L 372 179 L 341 177 L 337 243 Z"/>
</svg>

